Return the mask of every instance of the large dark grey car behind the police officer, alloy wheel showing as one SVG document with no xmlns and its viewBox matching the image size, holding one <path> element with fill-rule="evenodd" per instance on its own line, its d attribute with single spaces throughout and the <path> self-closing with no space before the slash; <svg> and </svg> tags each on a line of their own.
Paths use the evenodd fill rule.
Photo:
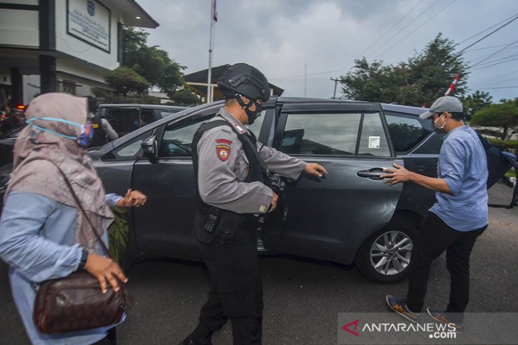
<svg viewBox="0 0 518 345">
<path fill-rule="evenodd" d="M 192 235 L 196 204 L 191 142 L 222 102 L 169 115 L 90 152 L 107 192 L 148 195 L 129 210 L 128 258 L 201 260 Z M 309 98 L 272 98 L 250 126 L 260 142 L 322 164 L 326 179 L 303 175 L 260 232 L 261 253 L 356 263 L 374 281 L 401 281 L 417 228 L 434 193 L 413 183 L 388 186 L 393 163 L 436 176 L 442 137 L 422 108 Z"/>
</svg>

